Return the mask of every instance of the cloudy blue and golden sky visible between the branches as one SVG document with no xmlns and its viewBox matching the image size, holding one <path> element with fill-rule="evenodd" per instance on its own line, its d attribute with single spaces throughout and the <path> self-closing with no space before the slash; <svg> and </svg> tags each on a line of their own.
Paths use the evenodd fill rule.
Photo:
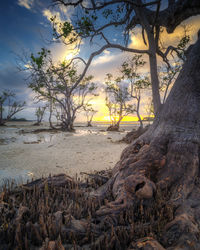
<svg viewBox="0 0 200 250">
<path fill-rule="evenodd" d="M 165 2 L 165 0 L 163 0 Z M 0 5 L 0 92 L 4 89 L 10 89 L 16 93 L 17 100 L 26 101 L 26 108 L 20 112 L 17 117 L 26 119 L 35 119 L 36 104 L 33 100 L 33 93 L 27 87 L 27 76 L 24 72 L 17 69 L 17 55 L 23 53 L 37 53 L 42 47 L 49 48 L 55 60 L 69 59 L 72 55 L 72 48 L 67 48 L 62 43 L 50 43 L 52 39 L 52 28 L 49 18 L 57 15 L 61 20 L 70 19 L 73 9 L 66 10 L 55 9 L 52 7 L 51 0 L 6 0 L 1 1 Z M 196 32 L 200 27 L 200 17 L 190 18 L 186 21 L 190 24 L 190 35 L 192 40 L 196 39 Z M 176 43 L 181 35 L 181 27 L 178 27 L 174 34 L 163 34 L 163 42 L 166 40 L 170 43 Z M 118 33 L 108 31 L 108 37 L 115 42 L 121 39 Z M 99 41 L 99 43 L 101 43 Z M 87 58 L 91 50 L 95 50 L 100 44 L 93 44 L 92 48 L 88 41 L 84 42 L 79 51 L 80 56 Z M 136 29 L 135 34 L 131 37 L 130 47 L 144 48 L 141 42 L 140 30 Z M 104 81 L 107 73 L 116 74 L 120 64 L 128 57 L 127 53 L 117 50 L 106 50 L 96 57 L 88 71 L 88 74 L 94 75 L 96 83 L 99 85 Z M 144 58 L 145 59 L 145 58 Z M 148 64 L 143 68 L 147 72 Z M 145 114 L 145 105 L 150 98 L 149 93 L 143 96 L 141 112 Z M 103 93 L 92 101 L 94 108 L 99 112 L 95 119 L 103 119 L 108 116 L 104 103 Z M 82 117 L 79 117 L 80 120 Z"/>
</svg>

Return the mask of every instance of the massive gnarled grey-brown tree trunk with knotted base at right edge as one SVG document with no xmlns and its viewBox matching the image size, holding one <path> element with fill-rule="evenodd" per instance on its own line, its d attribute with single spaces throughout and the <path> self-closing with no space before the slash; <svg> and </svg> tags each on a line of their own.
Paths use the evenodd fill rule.
<svg viewBox="0 0 200 250">
<path fill-rule="evenodd" d="M 111 189 L 114 197 L 98 216 L 113 216 L 138 200 L 158 202 L 155 195 L 161 192 L 164 206 L 172 209 L 159 237 L 163 247 L 200 249 L 199 156 L 200 38 L 188 49 L 187 61 L 153 125 L 123 151 L 109 183 L 93 194 L 105 198 Z"/>
</svg>

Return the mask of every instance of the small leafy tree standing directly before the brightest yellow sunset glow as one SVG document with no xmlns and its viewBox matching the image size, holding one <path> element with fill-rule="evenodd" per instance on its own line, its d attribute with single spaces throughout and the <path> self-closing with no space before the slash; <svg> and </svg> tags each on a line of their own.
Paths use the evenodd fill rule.
<svg viewBox="0 0 200 250">
<path fill-rule="evenodd" d="M 130 101 L 128 87 L 122 84 L 122 78 L 118 77 L 113 80 L 112 74 L 107 74 L 105 81 L 106 88 L 106 106 L 109 110 L 111 126 L 108 130 L 119 130 L 122 119 L 135 110 Z"/>
</svg>

